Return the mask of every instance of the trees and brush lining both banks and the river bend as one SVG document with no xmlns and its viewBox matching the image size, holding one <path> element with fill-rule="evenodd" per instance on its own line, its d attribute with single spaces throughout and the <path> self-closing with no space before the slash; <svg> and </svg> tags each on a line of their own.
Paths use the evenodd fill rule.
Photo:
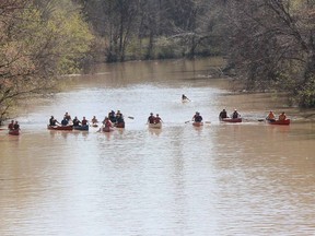
<svg viewBox="0 0 315 236">
<path fill-rule="evenodd" d="M 237 91 L 315 107 L 315 5 L 262 0 L 3 0 L 0 123 L 21 101 L 54 94 L 62 74 L 98 62 L 224 57 Z M 280 30 L 281 28 L 281 30 Z"/>
</svg>

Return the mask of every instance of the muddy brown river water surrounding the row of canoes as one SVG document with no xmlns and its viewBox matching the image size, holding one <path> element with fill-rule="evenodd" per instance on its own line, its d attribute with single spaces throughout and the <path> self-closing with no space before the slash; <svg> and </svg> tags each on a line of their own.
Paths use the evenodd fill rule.
<svg viewBox="0 0 315 236">
<path fill-rule="evenodd" d="M 103 64 L 28 104 L 20 137 L 0 131 L 0 235 L 315 235 L 315 122 L 277 97 L 232 94 L 209 74 L 219 63 Z M 222 108 L 245 121 L 220 123 Z M 125 130 L 46 129 L 51 115 L 112 109 Z M 269 109 L 292 123 L 258 121 Z M 211 123 L 185 123 L 197 110 Z M 151 111 L 162 130 L 148 129 Z"/>
</svg>

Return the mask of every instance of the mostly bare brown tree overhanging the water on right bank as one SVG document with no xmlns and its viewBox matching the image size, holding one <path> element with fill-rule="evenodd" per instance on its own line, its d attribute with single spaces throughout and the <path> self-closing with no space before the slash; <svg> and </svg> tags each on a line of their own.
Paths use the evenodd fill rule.
<svg viewBox="0 0 315 236">
<path fill-rule="evenodd" d="M 230 63 L 247 90 L 315 106 L 314 1 L 228 1 Z"/>
</svg>

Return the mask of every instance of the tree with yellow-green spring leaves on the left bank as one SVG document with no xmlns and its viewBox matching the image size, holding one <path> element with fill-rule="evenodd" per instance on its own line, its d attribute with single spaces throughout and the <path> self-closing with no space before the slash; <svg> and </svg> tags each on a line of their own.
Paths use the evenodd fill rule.
<svg viewBox="0 0 315 236">
<path fill-rule="evenodd" d="M 67 5 L 51 1 L 48 13 L 35 1 L 1 1 L 0 121 L 19 101 L 49 93 L 58 75 L 78 70 L 93 37 Z"/>
</svg>

